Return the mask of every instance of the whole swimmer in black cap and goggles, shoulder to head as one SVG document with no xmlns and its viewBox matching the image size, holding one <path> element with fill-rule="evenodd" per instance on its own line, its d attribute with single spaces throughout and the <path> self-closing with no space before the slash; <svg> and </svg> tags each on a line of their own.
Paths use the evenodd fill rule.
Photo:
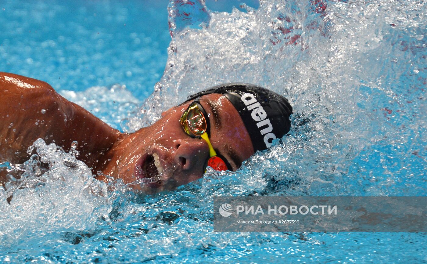
<svg viewBox="0 0 427 264">
<path fill-rule="evenodd" d="M 201 178 L 208 166 L 236 171 L 289 132 L 290 114 L 292 107 L 281 95 L 230 83 L 191 95 L 152 126 L 128 134 L 46 82 L 0 72 L 0 163 L 28 160 L 27 149 L 38 138 L 65 151 L 77 141 L 77 158 L 97 179 L 121 178 L 147 193 L 172 190 Z M 4 182 L 6 171 L 0 173 Z M 148 183 L 132 185 L 137 180 Z"/>
</svg>

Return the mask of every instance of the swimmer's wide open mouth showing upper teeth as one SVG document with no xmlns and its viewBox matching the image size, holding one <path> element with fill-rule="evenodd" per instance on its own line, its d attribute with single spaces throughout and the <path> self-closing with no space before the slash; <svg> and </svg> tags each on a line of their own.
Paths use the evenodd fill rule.
<svg viewBox="0 0 427 264">
<path fill-rule="evenodd" d="M 135 175 L 144 179 L 144 182 L 147 182 L 150 187 L 160 187 L 163 181 L 159 176 L 163 170 L 158 154 L 153 153 L 142 158 L 142 162 L 135 168 Z"/>
</svg>

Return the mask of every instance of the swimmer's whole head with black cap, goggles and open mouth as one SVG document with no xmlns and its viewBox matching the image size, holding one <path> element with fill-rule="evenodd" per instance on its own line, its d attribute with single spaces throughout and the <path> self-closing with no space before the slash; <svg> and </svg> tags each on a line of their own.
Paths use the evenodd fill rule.
<svg viewBox="0 0 427 264">
<path fill-rule="evenodd" d="M 207 166 L 236 171 L 289 131 L 290 114 L 287 99 L 265 88 L 215 86 L 164 111 L 152 126 L 120 138 L 103 171 L 125 183 L 145 183 L 146 192 L 192 182 Z"/>
</svg>

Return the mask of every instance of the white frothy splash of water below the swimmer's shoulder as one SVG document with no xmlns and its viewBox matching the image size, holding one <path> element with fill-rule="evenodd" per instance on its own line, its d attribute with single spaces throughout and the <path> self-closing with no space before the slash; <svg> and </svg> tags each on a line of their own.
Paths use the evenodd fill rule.
<svg viewBox="0 0 427 264">
<path fill-rule="evenodd" d="M 93 229 L 99 218 L 109 220 L 107 185 L 76 159 L 76 144 L 66 153 L 38 139 L 29 152 L 34 149 L 37 154 L 17 168 L 21 178 L 0 192 L 0 245 L 29 244 L 52 232 Z"/>
</svg>

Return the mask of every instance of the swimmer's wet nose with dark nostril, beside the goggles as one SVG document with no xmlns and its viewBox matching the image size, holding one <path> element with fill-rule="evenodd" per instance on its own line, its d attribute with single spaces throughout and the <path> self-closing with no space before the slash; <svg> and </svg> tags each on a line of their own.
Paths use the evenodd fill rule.
<svg viewBox="0 0 427 264">
<path fill-rule="evenodd" d="M 202 168 L 209 155 L 209 147 L 201 138 L 175 141 L 175 162 L 183 170 Z"/>
</svg>

